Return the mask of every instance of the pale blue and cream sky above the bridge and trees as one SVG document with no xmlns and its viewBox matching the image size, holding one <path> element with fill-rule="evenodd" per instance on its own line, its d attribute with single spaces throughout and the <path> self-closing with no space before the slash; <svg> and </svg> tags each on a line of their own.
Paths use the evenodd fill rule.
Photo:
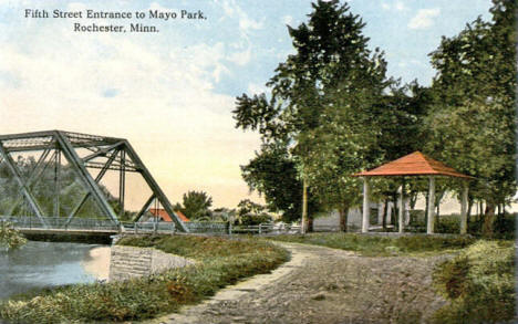
<svg viewBox="0 0 518 324">
<path fill-rule="evenodd" d="M 204 190 L 214 207 L 250 198 L 240 165 L 259 137 L 234 128 L 242 93 L 265 90 L 292 52 L 287 24 L 307 21 L 311 1 L 0 0 L 0 133 L 62 129 L 127 138 L 169 200 Z M 431 83 L 427 54 L 490 0 L 353 0 L 370 46 L 385 51 L 388 75 Z M 32 19 L 25 9 L 176 12 L 175 20 Z M 182 20 L 201 10 L 206 20 Z M 83 12 L 83 15 L 85 13 Z M 130 23 L 158 33 L 132 33 Z M 121 24 L 126 33 L 79 33 L 73 24 Z M 147 197 L 145 197 L 147 198 Z M 258 199 L 252 196 L 252 199 Z M 132 206 L 130 206 L 132 207 Z M 138 207 L 134 207 L 138 208 Z"/>
</svg>

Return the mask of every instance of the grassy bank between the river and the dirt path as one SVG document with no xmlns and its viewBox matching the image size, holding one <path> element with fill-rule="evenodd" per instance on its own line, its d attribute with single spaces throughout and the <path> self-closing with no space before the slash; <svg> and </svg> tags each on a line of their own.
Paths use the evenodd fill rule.
<svg viewBox="0 0 518 324">
<path fill-rule="evenodd" d="M 132 321 L 174 312 L 238 280 L 267 273 L 288 260 L 288 252 L 263 241 L 190 236 L 126 238 L 118 244 L 155 247 L 197 261 L 149 278 L 108 284 L 62 286 L 0 304 L 0 316 L 13 323 Z"/>
</svg>

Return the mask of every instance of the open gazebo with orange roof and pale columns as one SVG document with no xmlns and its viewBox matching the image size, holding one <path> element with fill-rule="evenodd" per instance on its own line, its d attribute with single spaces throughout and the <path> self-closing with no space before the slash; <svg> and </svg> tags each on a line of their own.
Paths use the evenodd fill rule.
<svg viewBox="0 0 518 324">
<path fill-rule="evenodd" d="M 435 177 L 445 176 L 459 178 L 463 180 L 463 192 L 460 195 L 460 234 L 467 231 L 467 200 L 468 200 L 468 180 L 473 177 L 463 175 L 455 169 L 445 166 L 421 151 L 414 151 L 396 160 L 384 164 L 375 169 L 362 171 L 353 175 L 363 179 L 363 219 L 362 232 L 369 231 L 369 178 L 370 177 L 428 177 L 428 220 L 426 223 L 426 233 L 434 233 L 434 205 L 435 205 Z M 403 188 L 402 188 L 403 189 Z M 400 233 L 404 229 L 404 190 L 401 190 L 400 208 L 398 208 L 398 224 Z"/>
</svg>

